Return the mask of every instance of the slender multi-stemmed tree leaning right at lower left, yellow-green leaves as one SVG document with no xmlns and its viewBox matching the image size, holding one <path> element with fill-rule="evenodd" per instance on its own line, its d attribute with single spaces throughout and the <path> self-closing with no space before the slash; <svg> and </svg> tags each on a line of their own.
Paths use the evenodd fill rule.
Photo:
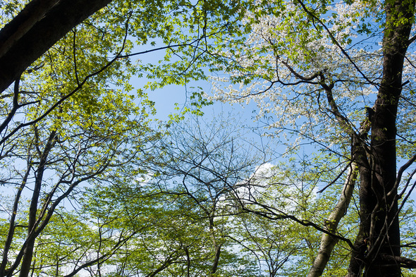
<svg viewBox="0 0 416 277">
<path fill-rule="evenodd" d="M 35 241 L 55 211 L 63 213 L 58 209 L 62 202 L 76 207 L 85 183 L 114 174 L 118 167 L 137 159 L 141 144 L 152 137 L 152 131 L 142 112 L 145 107 L 136 107 L 125 97 L 111 90 L 103 93 L 95 103 L 100 109 L 91 113 L 82 113 L 84 107 L 68 102 L 61 106 L 65 116 L 50 116 L 15 138 L 2 159 L 5 165 L 12 164 L 11 159 L 17 163 L 4 172 L 2 180 L 5 187 L 16 190 L 13 206 L 4 209 L 9 227 L 2 252 L 2 276 L 11 276 L 17 269 L 20 276 L 27 276 L 35 266 Z M 126 151 L 127 147 L 135 150 Z M 16 232 L 16 228 L 26 232 Z"/>
</svg>

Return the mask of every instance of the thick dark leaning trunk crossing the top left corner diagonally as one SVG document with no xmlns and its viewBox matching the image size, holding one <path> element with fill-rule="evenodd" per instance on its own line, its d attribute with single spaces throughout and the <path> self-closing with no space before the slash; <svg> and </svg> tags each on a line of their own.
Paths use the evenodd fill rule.
<svg viewBox="0 0 416 277">
<path fill-rule="evenodd" d="M 0 30 L 0 92 L 73 27 L 111 0 L 32 0 Z"/>
</svg>

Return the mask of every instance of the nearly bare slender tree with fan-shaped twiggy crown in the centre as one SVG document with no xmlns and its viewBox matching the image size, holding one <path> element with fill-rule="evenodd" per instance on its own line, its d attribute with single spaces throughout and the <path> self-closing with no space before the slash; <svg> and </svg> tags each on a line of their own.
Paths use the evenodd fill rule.
<svg viewBox="0 0 416 277">
<path fill-rule="evenodd" d="M 157 159 L 149 168 L 156 174 L 156 190 L 178 197 L 183 216 L 203 227 L 208 255 L 202 262 L 208 269 L 197 276 L 252 275 L 250 265 L 244 266 L 248 262 L 233 251 L 234 243 L 228 239 L 234 214 L 228 198 L 262 156 L 256 157 L 249 144 L 244 145 L 240 131 L 228 124 L 229 117 L 217 115 L 212 123 L 196 117 L 173 125 L 169 136 L 155 145 L 154 151 L 161 154 L 154 155 Z"/>
</svg>

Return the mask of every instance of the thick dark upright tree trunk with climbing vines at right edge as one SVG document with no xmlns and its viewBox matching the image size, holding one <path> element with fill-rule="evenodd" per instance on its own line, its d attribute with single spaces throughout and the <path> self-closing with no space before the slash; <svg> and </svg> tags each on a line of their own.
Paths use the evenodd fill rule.
<svg viewBox="0 0 416 277">
<path fill-rule="evenodd" d="M 374 105 L 369 165 L 360 164 L 361 226 L 350 262 L 349 276 L 401 276 L 400 265 L 385 257 L 400 257 L 396 183 L 396 114 L 415 1 L 385 4 L 383 77 Z M 361 176 L 361 171 L 370 174 Z M 372 197 L 374 195 L 374 197 Z M 364 198 L 362 198 L 364 197 Z"/>
</svg>

